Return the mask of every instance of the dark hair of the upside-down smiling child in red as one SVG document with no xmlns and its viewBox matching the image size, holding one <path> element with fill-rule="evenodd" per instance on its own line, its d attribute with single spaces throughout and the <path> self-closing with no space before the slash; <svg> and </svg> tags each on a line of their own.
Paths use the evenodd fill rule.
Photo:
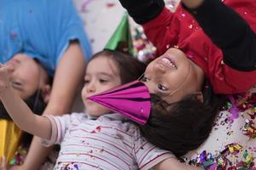
<svg viewBox="0 0 256 170">
<path fill-rule="evenodd" d="M 225 101 L 224 95 L 213 94 L 209 86 L 203 90 L 203 96 L 203 103 L 190 94 L 168 105 L 156 94 L 151 94 L 150 117 L 145 125 L 139 125 L 143 136 L 177 157 L 195 150 L 211 133 L 215 117 Z"/>
</svg>

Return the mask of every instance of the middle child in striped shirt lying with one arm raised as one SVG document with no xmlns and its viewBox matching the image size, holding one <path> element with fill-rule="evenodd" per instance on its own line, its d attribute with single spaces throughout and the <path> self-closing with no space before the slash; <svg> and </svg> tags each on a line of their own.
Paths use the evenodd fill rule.
<svg viewBox="0 0 256 170">
<path fill-rule="evenodd" d="M 61 144 L 55 169 L 199 169 L 178 162 L 170 151 L 148 143 L 139 128 L 124 116 L 88 99 L 136 80 L 144 69 L 145 65 L 130 55 L 103 50 L 87 65 L 81 92 L 85 113 L 37 116 L 15 94 L 9 83 L 9 73 L 1 65 L 0 99 L 21 129 L 42 138 L 45 145 Z M 131 86 L 144 90 L 141 84 L 136 82 Z"/>
</svg>

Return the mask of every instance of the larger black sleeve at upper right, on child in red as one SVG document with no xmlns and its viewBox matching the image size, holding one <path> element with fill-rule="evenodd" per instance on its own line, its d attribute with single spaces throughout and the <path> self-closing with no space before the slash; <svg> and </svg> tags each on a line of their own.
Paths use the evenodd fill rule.
<svg viewBox="0 0 256 170">
<path fill-rule="evenodd" d="M 243 8 L 247 7 L 247 3 L 242 4 Z M 186 7 L 183 5 L 183 8 Z M 219 0 L 205 0 L 199 8 L 186 9 L 212 42 L 222 49 L 226 65 L 238 71 L 255 70 L 255 33 L 235 10 Z"/>
</svg>

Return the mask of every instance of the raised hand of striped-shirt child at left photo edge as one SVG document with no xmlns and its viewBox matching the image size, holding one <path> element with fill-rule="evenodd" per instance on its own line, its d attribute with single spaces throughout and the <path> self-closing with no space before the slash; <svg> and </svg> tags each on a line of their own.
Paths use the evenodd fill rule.
<svg viewBox="0 0 256 170">
<path fill-rule="evenodd" d="M 9 88 L 10 85 L 9 72 L 6 66 L 0 64 L 0 93 Z"/>
</svg>

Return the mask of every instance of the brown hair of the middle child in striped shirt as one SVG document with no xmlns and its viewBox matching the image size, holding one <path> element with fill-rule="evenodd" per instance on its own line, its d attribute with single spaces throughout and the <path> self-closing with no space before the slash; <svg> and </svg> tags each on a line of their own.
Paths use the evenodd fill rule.
<svg viewBox="0 0 256 170">
<path fill-rule="evenodd" d="M 122 84 L 136 80 L 146 69 L 146 65 L 135 59 L 132 55 L 111 49 L 104 49 L 94 54 L 88 63 L 98 57 L 108 57 L 113 59 L 118 65 Z"/>
</svg>

